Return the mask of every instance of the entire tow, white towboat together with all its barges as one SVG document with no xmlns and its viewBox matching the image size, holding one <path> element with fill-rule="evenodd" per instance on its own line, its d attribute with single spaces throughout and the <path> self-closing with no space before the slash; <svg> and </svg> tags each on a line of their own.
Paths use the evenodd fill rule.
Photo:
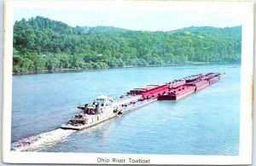
<svg viewBox="0 0 256 166">
<path fill-rule="evenodd" d="M 142 88 L 131 89 L 115 102 L 108 95 L 102 94 L 92 103 L 78 106 L 80 112 L 70 117 L 67 123 L 62 124 L 61 129 L 86 129 L 156 100 L 180 100 L 207 88 L 224 76 L 224 73 L 208 72 L 183 77 L 170 83 L 149 84 Z"/>
</svg>

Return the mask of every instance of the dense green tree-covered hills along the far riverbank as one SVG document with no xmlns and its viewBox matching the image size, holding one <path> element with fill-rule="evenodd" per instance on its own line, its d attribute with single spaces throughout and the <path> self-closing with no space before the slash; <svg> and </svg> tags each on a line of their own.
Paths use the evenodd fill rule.
<svg viewBox="0 0 256 166">
<path fill-rule="evenodd" d="M 130 31 L 72 27 L 39 16 L 14 26 L 13 72 L 240 60 L 241 26 Z"/>
</svg>

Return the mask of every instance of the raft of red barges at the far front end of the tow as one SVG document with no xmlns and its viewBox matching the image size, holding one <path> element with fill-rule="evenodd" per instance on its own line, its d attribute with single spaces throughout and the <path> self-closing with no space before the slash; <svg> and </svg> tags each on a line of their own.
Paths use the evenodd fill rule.
<svg viewBox="0 0 256 166">
<path fill-rule="evenodd" d="M 224 73 L 201 73 L 183 77 L 170 83 L 154 85 L 154 88 L 152 88 L 153 85 L 148 85 L 144 88 L 132 89 L 128 94 L 141 94 L 145 99 L 157 97 L 158 100 L 180 100 L 189 94 L 207 88 L 223 77 Z"/>
</svg>

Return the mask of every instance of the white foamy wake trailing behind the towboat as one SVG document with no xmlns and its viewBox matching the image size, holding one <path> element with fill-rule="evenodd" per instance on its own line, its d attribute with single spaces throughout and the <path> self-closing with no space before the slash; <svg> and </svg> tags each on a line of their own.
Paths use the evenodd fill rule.
<svg viewBox="0 0 256 166">
<path fill-rule="evenodd" d="M 71 129 L 55 129 L 39 135 L 32 135 L 12 143 L 11 151 L 40 151 L 45 147 L 53 146 L 60 141 L 64 141 L 73 132 L 74 130 Z"/>
</svg>

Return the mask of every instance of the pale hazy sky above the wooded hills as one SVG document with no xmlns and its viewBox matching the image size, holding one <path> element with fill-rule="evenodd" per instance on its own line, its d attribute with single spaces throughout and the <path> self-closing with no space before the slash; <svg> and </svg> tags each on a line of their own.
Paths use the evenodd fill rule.
<svg viewBox="0 0 256 166">
<path fill-rule="evenodd" d="M 152 8 L 152 9 L 151 9 Z M 36 16 L 50 20 L 60 20 L 69 26 L 115 26 L 130 30 L 172 31 L 189 26 L 240 26 L 242 12 L 229 9 L 175 9 L 154 6 L 124 6 L 98 8 L 88 5 L 85 8 L 18 8 L 15 20 Z"/>
</svg>

